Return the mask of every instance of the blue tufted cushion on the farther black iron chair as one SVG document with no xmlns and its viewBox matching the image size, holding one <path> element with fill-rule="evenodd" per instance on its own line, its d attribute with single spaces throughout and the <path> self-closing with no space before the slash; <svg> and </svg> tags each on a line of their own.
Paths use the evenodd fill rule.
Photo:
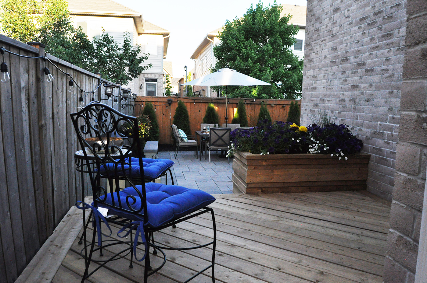
<svg viewBox="0 0 427 283">
<path fill-rule="evenodd" d="M 118 161 L 118 160 L 116 160 Z M 139 175 L 140 172 L 140 166 L 139 166 L 139 159 L 136 157 L 130 158 L 130 163 L 132 166 L 129 166 L 129 158 L 125 160 L 124 170 L 126 174 L 129 174 L 129 167 L 131 167 L 131 175 Z M 175 164 L 170 159 L 152 159 L 152 158 L 143 158 L 142 159 L 143 167 L 144 167 L 144 177 L 145 179 L 157 179 L 160 177 L 166 170 L 168 170 L 172 165 Z M 104 172 L 104 167 L 101 166 L 101 172 Z M 107 163 L 107 168 L 109 170 L 114 170 L 114 163 Z M 121 176 L 123 175 L 122 165 L 117 165 L 117 171 L 118 174 Z"/>
</svg>

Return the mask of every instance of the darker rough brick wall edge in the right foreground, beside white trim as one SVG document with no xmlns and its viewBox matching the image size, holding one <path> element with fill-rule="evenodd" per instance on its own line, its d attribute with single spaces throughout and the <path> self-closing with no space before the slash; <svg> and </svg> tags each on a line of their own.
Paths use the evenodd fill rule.
<svg viewBox="0 0 427 283">
<path fill-rule="evenodd" d="M 384 283 L 412 283 L 415 280 L 426 178 L 427 2 L 408 0 L 406 8 L 407 47 L 401 88 L 401 126 Z"/>
</svg>

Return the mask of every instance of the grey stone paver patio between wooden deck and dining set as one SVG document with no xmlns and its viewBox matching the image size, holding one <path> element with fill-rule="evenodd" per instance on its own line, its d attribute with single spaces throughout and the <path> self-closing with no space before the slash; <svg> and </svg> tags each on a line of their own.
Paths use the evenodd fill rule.
<svg viewBox="0 0 427 283">
<path fill-rule="evenodd" d="M 173 179 L 175 185 L 184 186 L 191 189 L 199 189 L 207 193 L 233 193 L 233 183 L 231 175 L 233 173 L 233 159 L 230 164 L 227 158 L 220 158 L 217 154 L 211 153 L 211 163 L 209 159 L 199 160 L 192 151 L 181 151 L 177 159 L 173 157 L 173 151 L 163 151 L 158 153 L 158 158 L 173 160 Z M 165 179 L 162 177 L 161 182 Z M 168 178 L 168 184 L 171 184 Z"/>
</svg>

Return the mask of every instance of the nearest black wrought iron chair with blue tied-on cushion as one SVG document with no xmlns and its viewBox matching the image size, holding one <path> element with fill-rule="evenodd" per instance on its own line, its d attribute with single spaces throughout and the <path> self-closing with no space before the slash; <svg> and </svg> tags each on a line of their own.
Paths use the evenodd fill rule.
<svg viewBox="0 0 427 283">
<path fill-rule="evenodd" d="M 126 257 L 128 254 L 130 254 L 130 267 L 132 267 L 134 255 L 135 259 L 137 259 L 136 250 L 138 245 L 143 245 L 144 247 L 144 255 L 138 260 L 145 260 L 144 283 L 147 283 L 147 278 L 159 271 L 166 263 L 166 254 L 163 250 L 182 251 L 211 246 L 212 257 L 209 258 L 211 264 L 202 269 L 202 271 L 194 274 L 186 282 L 192 280 L 202 272 L 211 269 L 212 282 L 214 283 L 216 226 L 213 210 L 212 208 L 208 208 L 207 205 L 214 202 L 215 198 L 203 191 L 176 185 L 163 185 L 151 182 L 142 182 L 141 185 L 135 184 L 135 179 L 145 179 L 144 167 L 138 166 L 139 170 L 137 172 L 133 171 L 132 167 L 134 165 L 132 164 L 132 159 L 130 159 L 132 152 L 143 152 L 139 139 L 133 139 L 129 148 L 121 148 L 114 145 L 109 136 L 114 130 L 118 131 L 123 123 L 128 123 L 132 128 L 132 134 L 137 136 L 137 118 L 124 115 L 97 101 L 91 102 L 81 111 L 72 113 L 70 116 L 82 148 L 82 154 L 84 155 L 83 162 L 89 173 L 94 200 L 92 204 L 76 203 L 77 207 L 82 209 L 83 212 L 86 209 L 91 211 L 91 222 L 93 223 L 93 235 L 89 241 L 90 244 L 88 244 L 86 237 L 87 223 L 85 223 L 85 217 L 83 217 L 85 246 L 82 250 L 82 256 L 85 258 L 85 271 L 82 283 L 106 263 Z M 118 131 L 118 135 L 123 138 L 126 137 L 126 134 L 120 131 Z M 87 137 L 97 138 L 99 142 L 89 144 L 85 139 Z M 101 139 L 102 137 L 106 137 L 106 139 L 103 140 Z M 142 164 L 142 154 L 138 154 L 138 156 L 138 164 Z M 119 182 L 121 177 L 124 177 L 126 183 L 129 184 L 127 188 L 121 187 L 123 184 L 123 182 Z M 114 215 L 114 217 L 105 217 L 105 210 L 108 210 L 108 214 Z M 205 213 L 211 214 L 212 218 L 213 240 L 209 243 L 185 248 L 173 248 L 154 242 L 154 232 L 170 226 L 174 227 L 179 222 Z M 120 225 L 122 228 L 117 233 L 117 236 L 123 238 L 130 234 L 130 240 L 121 241 L 110 237 L 102 237 L 101 221 L 105 222 L 110 232 L 109 223 Z M 125 233 L 125 235 L 121 236 L 120 234 L 122 233 Z M 96 243 L 98 244 L 97 248 L 95 247 Z M 125 246 L 125 248 L 119 252 L 115 252 L 112 256 L 108 256 L 105 260 L 93 260 L 95 251 L 100 251 L 102 255 L 103 249 L 108 249 L 113 245 Z M 150 265 L 151 248 L 153 248 L 152 254 L 157 254 L 157 251 L 160 251 L 161 257 L 163 257 L 163 263 L 153 268 Z M 92 261 L 96 261 L 99 266 L 89 272 L 89 266 Z"/>
</svg>

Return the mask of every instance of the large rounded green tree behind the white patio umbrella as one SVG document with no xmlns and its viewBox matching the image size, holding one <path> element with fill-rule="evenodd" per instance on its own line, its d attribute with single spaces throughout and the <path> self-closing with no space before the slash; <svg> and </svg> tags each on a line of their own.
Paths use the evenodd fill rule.
<svg viewBox="0 0 427 283">
<path fill-rule="evenodd" d="M 213 47 L 217 59 L 213 71 L 228 66 L 272 84 L 228 87 L 230 97 L 295 99 L 301 95 L 302 60 L 289 48 L 299 28 L 288 25 L 291 16 L 280 17 L 281 11 L 276 3 L 264 8 L 259 2 L 243 17 L 225 23 L 221 43 Z"/>
</svg>

